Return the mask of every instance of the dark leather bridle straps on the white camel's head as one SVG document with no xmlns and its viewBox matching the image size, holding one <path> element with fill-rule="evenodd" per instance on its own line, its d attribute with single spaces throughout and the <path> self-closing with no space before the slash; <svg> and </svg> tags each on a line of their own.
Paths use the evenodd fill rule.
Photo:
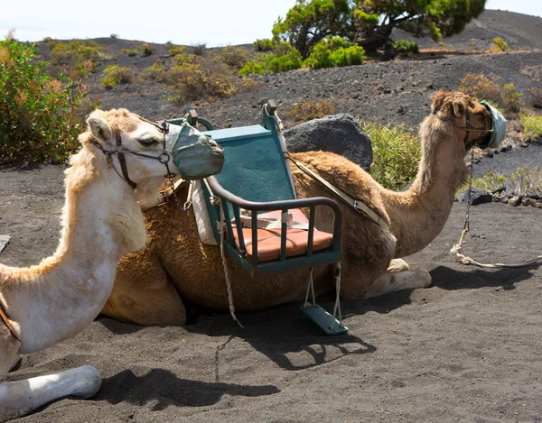
<svg viewBox="0 0 542 423">
<path fill-rule="evenodd" d="M 133 115 L 135 115 L 135 114 L 133 114 Z M 126 147 L 122 143 L 122 139 L 121 139 L 121 136 L 120 136 L 120 128 L 118 128 L 118 127 L 117 127 L 117 131 L 115 132 L 115 139 L 116 139 L 116 143 L 117 143 L 117 145 L 115 146 L 115 150 L 109 151 L 109 150 L 104 149 L 101 146 L 101 144 L 98 143 L 94 139 L 90 143 L 96 145 L 98 147 L 98 150 L 103 152 L 106 155 L 106 157 L 107 157 L 107 165 L 109 167 L 112 167 L 117 172 L 117 175 L 120 176 L 122 179 L 125 179 L 126 182 L 128 183 L 128 185 L 130 187 L 132 187 L 133 189 L 135 189 L 137 187 L 137 184 L 132 179 L 130 179 L 130 176 L 128 174 L 128 167 L 126 166 L 126 157 L 125 157 L 125 153 L 127 153 L 127 152 L 129 152 L 131 154 L 135 154 L 136 156 L 139 156 L 139 157 L 145 157 L 147 159 L 154 159 L 154 160 L 160 161 L 161 163 L 164 164 L 165 169 L 167 171 L 167 173 L 164 175 L 164 177 L 167 178 L 167 179 L 172 180 L 175 177 L 175 174 L 170 170 L 169 161 L 171 161 L 172 158 L 173 158 L 173 152 L 167 150 L 166 145 L 165 145 L 166 144 L 165 135 L 166 135 L 166 133 L 169 133 L 169 124 L 166 121 L 163 121 L 161 124 L 157 124 L 156 122 L 145 119 L 145 117 L 142 117 L 142 116 L 139 116 L 139 115 L 135 115 L 135 117 L 137 117 L 139 120 L 141 120 L 143 122 L 146 122 L 147 124 L 154 125 L 158 129 L 158 131 L 160 131 L 161 133 L 164 134 L 164 140 L 163 140 L 164 150 L 162 151 L 162 154 L 160 154 L 158 157 L 151 156 L 151 155 L 145 154 L 143 152 L 135 152 L 133 150 L 126 149 Z M 157 152 L 158 150 L 154 149 L 154 150 L 149 150 L 149 151 L 150 152 Z M 114 154 L 117 154 L 118 162 L 120 163 L 120 170 L 122 172 L 122 175 L 118 172 L 117 168 L 113 164 L 112 156 Z"/>
</svg>

